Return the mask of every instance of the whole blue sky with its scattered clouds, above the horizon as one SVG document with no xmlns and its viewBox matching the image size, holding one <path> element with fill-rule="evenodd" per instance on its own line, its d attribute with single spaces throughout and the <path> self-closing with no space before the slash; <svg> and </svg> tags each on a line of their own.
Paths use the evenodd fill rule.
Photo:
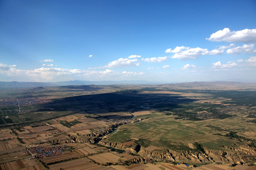
<svg viewBox="0 0 256 170">
<path fill-rule="evenodd" d="M 0 81 L 256 81 L 255 0 L 1 0 Z"/>
</svg>

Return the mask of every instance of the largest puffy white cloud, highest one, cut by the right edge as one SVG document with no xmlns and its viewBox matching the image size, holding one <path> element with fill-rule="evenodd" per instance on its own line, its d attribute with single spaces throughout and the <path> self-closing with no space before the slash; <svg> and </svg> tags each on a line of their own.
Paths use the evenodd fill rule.
<svg viewBox="0 0 256 170">
<path fill-rule="evenodd" d="M 244 29 L 239 31 L 230 31 L 229 28 L 224 28 L 206 38 L 209 41 L 216 42 L 256 42 L 256 29 Z"/>
</svg>

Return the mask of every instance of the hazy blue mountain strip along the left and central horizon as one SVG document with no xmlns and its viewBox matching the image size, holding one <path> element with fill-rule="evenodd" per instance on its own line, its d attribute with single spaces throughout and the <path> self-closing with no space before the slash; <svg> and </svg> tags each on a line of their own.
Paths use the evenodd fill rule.
<svg viewBox="0 0 256 170">
<path fill-rule="evenodd" d="M 60 81 L 60 82 L 3 82 L 0 81 L 0 87 L 39 87 L 39 86 L 62 86 L 62 85 L 149 85 L 149 84 L 161 84 L 166 82 L 149 82 L 149 81 Z"/>
</svg>

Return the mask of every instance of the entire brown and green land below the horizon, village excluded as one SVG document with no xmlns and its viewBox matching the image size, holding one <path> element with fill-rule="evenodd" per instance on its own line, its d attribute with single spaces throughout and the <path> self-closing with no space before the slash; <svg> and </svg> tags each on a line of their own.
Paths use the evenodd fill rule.
<svg viewBox="0 0 256 170">
<path fill-rule="evenodd" d="M 170 162 L 254 165 L 256 85 L 198 84 L 2 89 L 0 165 L 52 170 L 187 168 Z M 26 149 L 60 145 L 66 146 L 63 153 L 45 158 Z M 34 157 L 27 165 L 25 158 Z M 212 166 L 206 169 L 218 169 Z"/>
</svg>

